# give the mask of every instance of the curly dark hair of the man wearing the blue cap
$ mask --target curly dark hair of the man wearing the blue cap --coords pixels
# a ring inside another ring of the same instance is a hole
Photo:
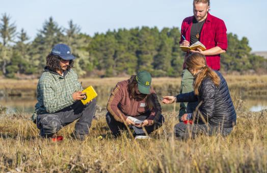
[[[57,72],[58,70],[61,70],[60,60],[62,60],[60,56],[49,53],[46,56],[46,67],[51,71]],[[72,60],[69,61],[67,70],[70,70],[71,68],[73,68]]]

